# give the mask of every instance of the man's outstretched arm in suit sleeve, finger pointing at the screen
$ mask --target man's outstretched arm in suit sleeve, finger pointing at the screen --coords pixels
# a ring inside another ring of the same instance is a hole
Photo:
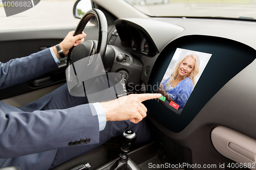
[[[141,102],[160,96],[161,94],[131,94],[100,104],[105,111],[106,120],[129,119],[138,123],[146,116],[146,108]],[[0,105],[0,150],[3,151],[0,158],[70,147],[69,142],[81,138],[90,138],[91,141],[87,144],[98,143],[99,124],[95,112],[91,104],[33,112]]]

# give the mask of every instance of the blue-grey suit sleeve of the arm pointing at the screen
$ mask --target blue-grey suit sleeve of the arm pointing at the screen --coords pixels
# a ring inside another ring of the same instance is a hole
[[[0,102],[0,158],[18,157],[99,142],[99,122],[92,104],[69,109],[24,112]]]

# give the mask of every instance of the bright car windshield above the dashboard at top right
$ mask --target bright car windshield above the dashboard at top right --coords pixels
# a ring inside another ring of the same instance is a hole
[[[123,0],[150,16],[256,18],[256,0]]]

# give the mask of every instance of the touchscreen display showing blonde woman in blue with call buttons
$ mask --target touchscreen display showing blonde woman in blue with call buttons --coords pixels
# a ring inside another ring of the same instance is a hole
[[[197,85],[211,54],[177,48],[160,82],[157,101],[181,114]]]

